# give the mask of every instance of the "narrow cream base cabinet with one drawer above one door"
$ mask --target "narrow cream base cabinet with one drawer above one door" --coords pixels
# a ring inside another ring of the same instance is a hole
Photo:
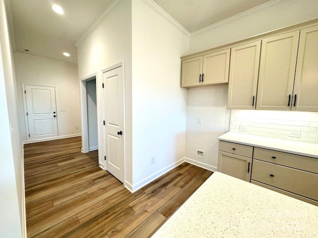
[[[219,141],[218,172],[249,182],[252,153],[251,146]]]

